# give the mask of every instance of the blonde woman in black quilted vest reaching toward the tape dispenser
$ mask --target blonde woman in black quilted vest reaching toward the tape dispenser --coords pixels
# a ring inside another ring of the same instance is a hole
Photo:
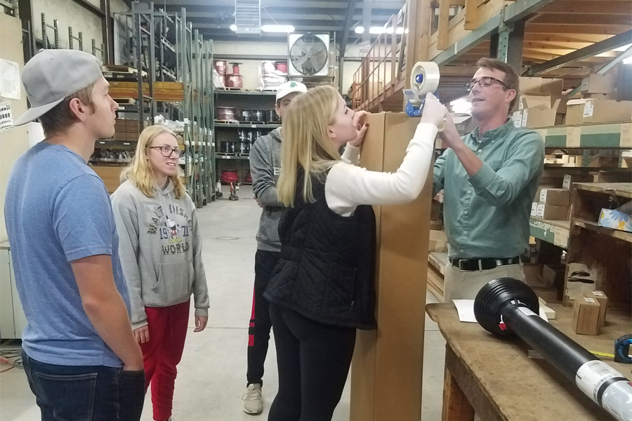
[[[299,95],[287,111],[277,193],[288,209],[279,224],[281,260],[264,295],[279,366],[269,421],[331,420],[356,329],[376,328],[375,215],[369,205],[419,196],[446,109],[428,95],[395,173],[357,166],[368,128],[358,130],[363,114],[354,114],[331,86]]]

